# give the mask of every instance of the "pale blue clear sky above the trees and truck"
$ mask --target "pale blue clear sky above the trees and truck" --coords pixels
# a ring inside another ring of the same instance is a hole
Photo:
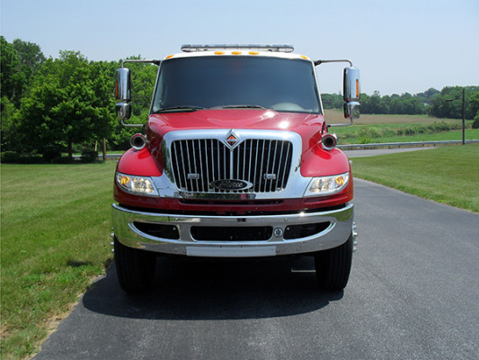
[[[479,0],[0,0],[0,13],[7,41],[34,42],[46,57],[288,43],[313,59],[350,58],[366,94],[479,85]],[[317,67],[321,92],[342,91],[342,67]]]

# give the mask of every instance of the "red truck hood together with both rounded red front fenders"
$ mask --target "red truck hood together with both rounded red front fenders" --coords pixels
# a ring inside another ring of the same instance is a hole
[[[164,134],[173,130],[288,130],[303,139],[301,175],[306,177],[342,174],[350,171],[348,157],[334,148],[320,145],[324,117],[318,114],[273,112],[268,110],[200,110],[151,115],[146,125],[148,149],[130,150],[120,163],[125,174],[159,176],[163,172],[161,142]],[[151,153],[151,157],[149,156]],[[155,161],[156,166],[152,163]]]

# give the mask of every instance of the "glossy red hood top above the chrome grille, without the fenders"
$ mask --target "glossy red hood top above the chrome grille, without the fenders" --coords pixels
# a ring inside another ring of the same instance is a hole
[[[289,130],[301,135],[305,152],[321,139],[323,124],[324,117],[318,114],[255,109],[200,110],[151,115],[146,133],[149,139],[161,141],[166,132],[173,130]]]

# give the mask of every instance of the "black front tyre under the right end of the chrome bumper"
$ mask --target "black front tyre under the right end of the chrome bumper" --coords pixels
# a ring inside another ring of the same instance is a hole
[[[318,285],[325,290],[344,289],[350,278],[351,260],[352,234],[341,246],[315,253]]]

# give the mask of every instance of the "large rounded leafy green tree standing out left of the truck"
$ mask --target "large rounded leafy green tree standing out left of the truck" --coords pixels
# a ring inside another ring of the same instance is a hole
[[[24,150],[45,154],[51,148],[103,139],[111,131],[111,77],[103,63],[89,64],[75,51],[60,51],[34,76],[22,100],[19,128]]]

